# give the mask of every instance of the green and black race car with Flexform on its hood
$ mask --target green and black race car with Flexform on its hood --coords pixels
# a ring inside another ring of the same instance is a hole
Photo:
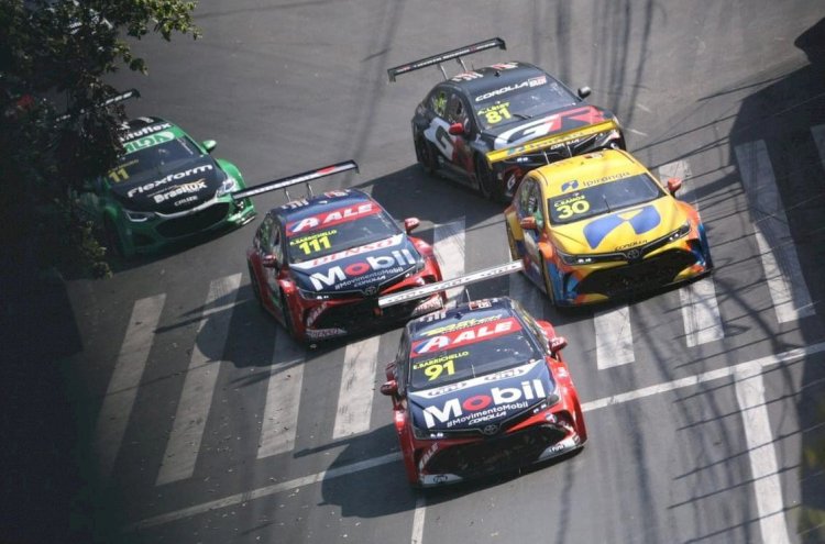
[[[194,234],[240,226],[255,217],[238,168],[212,158],[216,142],[195,142],[160,118],[124,123],[125,149],[106,176],[77,195],[80,209],[103,231],[110,251],[124,257],[157,252]]]

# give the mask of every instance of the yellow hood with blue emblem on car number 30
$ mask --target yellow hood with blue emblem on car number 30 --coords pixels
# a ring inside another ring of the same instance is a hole
[[[667,236],[685,221],[688,215],[675,200],[662,197],[575,223],[554,225],[550,236],[556,247],[571,255],[623,252]]]

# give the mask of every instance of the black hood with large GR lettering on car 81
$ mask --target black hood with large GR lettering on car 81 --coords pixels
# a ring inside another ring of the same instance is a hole
[[[507,123],[485,130],[481,137],[491,149],[503,149],[544,136],[610,121],[615,115],[596,106],[574,106],[537,115],[520,123]]]

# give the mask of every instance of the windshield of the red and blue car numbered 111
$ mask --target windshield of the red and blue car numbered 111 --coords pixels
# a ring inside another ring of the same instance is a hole
[[[318,218],[317,225],[299,232],[294,232],[290,227],[293,223],[287,223],[289,263],[302,263],[399,234],[400,230],[393,218],[377,204],[373,206],[374,211],[353,220],[326,220],[336,217],[337,211],[315,215],[309,219]],[[343,217],[343,213],[339,217]]]

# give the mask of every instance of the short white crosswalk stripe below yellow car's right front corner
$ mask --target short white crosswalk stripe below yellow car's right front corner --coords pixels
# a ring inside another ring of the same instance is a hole
[[[688,347],[725,337],[713,279],[702,278],[679,289]]]

